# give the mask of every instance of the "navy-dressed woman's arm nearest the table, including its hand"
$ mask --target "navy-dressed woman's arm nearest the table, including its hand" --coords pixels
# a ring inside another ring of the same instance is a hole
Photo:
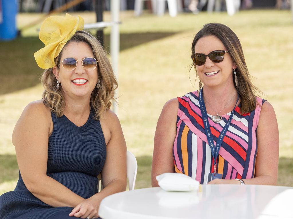
[[[116,114],[110,110],[100,120],[106,146],[106,161],[101,172],[103,190],[77,205],[69,216],[97,218],[103,198],[126,189],[126,143]]]

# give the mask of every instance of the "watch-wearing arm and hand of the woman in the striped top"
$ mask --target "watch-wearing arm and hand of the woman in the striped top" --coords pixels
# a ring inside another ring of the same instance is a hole
[[[279,163],[279,130],[275,111],[269,102],[264,102],[261,107],[256,137],[258,153],[255,161],[255,178],[243,181],[246,184],[276,185]],[[209,184],[239,184],[239,181],[215,179]]]

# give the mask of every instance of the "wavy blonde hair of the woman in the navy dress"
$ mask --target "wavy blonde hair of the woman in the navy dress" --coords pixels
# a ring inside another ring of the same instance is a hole
[[[99,41],[85,31],[76,31],[76,33],[70,38],[65,44],[64,48],[70,42],[85,42],[91,48],[94,58],[98,60],[98,78],[100,79],[100,88],[94,89],[91,93],[90,105],[91,109],[94,111],[94,118],[96,120],[100,119],[101,114],[106,110],[110,109],[112,105],[112,100],[114,99],[115,89],[118,87],[117,80],[114,76],[112,66],[107,57],[107,53]],[[63,48],[63,49],[64,49]],[[63,51],[62,49],[62,51]],[[60,67],[60,58],[62,56],[62,51],[54,59],[55,65]],[[57,88],[57,79],[53,74],[53,68],[46,69],[41,77],[42,85],[45,91],[42,94],[45,106],[49,107],[52,112],[56,114],[57,117],[63,116],[63,111],[65,108],[65,101],[61,89]]]

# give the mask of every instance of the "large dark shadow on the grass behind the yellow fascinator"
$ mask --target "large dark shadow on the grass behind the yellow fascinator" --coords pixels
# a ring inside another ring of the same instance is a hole
[[[145,32],[120,34],[120,51],[162,39],[174,32]],[[105,35],[105,48],[109,51],[110,36]],[[0,95],[39,84],[43,70],[35,62],[34,53],[44,44],[38,37],[19,37],[13,41],[0,41],[1,81]]]

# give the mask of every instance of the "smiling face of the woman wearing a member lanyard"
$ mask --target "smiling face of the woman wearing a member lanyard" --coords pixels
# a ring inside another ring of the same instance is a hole
[[[195,53],[209,54],[215,50],[227,50],[224,44],[215,36],[204,36],[195,44]],[[204,65],[195,65],[197,75],[202,83],[207,87],[234,86],[232,69],[236,68],[229,53],[224,55],[224,60],[219,63],[212,62],[206,57]]]

